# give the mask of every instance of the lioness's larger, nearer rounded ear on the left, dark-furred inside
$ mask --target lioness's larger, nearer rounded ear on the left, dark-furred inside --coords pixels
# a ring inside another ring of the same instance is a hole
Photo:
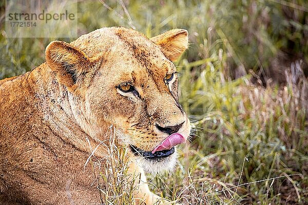
[[[89,70],[90,59],[81,50],[55,40],[46,47],[46,61],[60,84],[71,88]]]

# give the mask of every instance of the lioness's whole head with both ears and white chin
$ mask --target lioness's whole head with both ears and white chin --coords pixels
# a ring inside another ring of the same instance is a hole
[[[46,60],[69,91],[74,117],[84,131],[103,140],[107,127],[117,127],[119,141],[146,171],[156,173],[175,166],[172,146],[189,135],[171,62],[187,48],[187,35],[175,29],[148,39],[132,29],[103,28],[70,44],[51,42]],[[170,135],[169,146],[153,152]]]

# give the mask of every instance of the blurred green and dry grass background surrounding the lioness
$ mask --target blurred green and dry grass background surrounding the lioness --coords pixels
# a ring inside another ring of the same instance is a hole
[[[4,1],[0,11],[2,79],[43,63],[54,39],[7,38]],[[149,176],[153,192],[187,204],[308,203],[307,1],[79,1],[78,18],[79,34],[189,32],[175,64],[194,133],[174,174]]]

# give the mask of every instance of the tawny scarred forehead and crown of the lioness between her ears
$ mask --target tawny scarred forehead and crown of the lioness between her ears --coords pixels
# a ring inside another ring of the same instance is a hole
[[[99,73],[109,76],[111,84],[141,83],[149,77],[160,81],[166,74],[176,72],[176,67],[160,47],[133,29],[103,28],[85,34],[71,44],[89,57],[104,58]]]

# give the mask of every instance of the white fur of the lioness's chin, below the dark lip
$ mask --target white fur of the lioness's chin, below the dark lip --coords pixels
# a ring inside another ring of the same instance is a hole
[[[152,175],[162,174],[165,171],[172,172],[174,171],[178,162],[177,148],[175,148],[175,153],[168,157],[151,160],[140,156],[136,158],[136,162],[140,167],[144,169],[145,172]]]

